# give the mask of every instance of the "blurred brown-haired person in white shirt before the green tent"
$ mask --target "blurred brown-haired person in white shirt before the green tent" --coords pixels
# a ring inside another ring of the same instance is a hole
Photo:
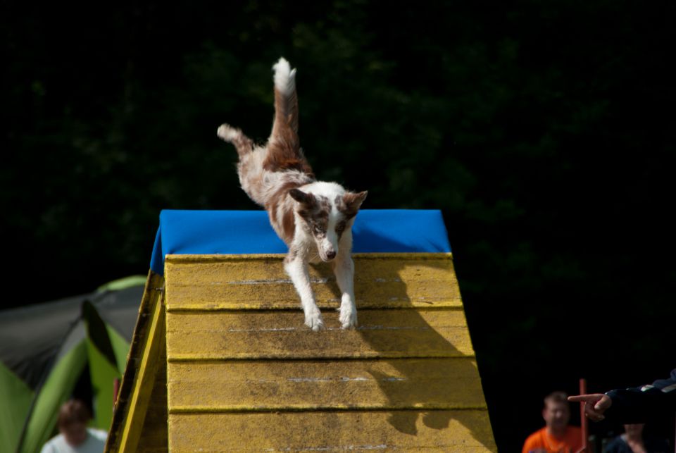
[[[91,416],[80,400],[70,399],[58,411],[59,435],[51,438],[40,453],[103,453],[107,433],[87,428]]]

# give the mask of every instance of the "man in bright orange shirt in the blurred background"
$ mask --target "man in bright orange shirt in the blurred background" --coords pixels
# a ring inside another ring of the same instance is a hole
[[[545,426],[526,439],[522,453],[577,453],[582,449],[582,430],[569,426],[570,404],[564,392],[544,398],[542,418]]]

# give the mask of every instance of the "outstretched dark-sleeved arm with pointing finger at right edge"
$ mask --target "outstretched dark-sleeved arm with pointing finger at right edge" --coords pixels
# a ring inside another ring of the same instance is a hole
[[[583,403],[584,414],[592,421],[608,416],[620,423],[644,423],[676,411],[676,368],[669,378],[652,385],[576,395],[568,401]]]

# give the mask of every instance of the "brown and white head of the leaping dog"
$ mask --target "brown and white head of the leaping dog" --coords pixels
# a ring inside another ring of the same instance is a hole
[[[338,254],[343,233],[352,228],[354,217],[368,192],[343,192],[335,195],[313,194],[292,189],[289,195],[298,201],[296,213],[301,227],[317,244],[322,261],[332,261]]]

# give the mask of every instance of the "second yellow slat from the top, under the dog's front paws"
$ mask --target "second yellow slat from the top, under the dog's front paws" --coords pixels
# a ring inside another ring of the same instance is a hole
[[[359,327],[342,330],[335,310],[311,335],[293,311],[170,311],[170,361],[182,359],[323,359],[473,356],[461,310],[361,309]]]

